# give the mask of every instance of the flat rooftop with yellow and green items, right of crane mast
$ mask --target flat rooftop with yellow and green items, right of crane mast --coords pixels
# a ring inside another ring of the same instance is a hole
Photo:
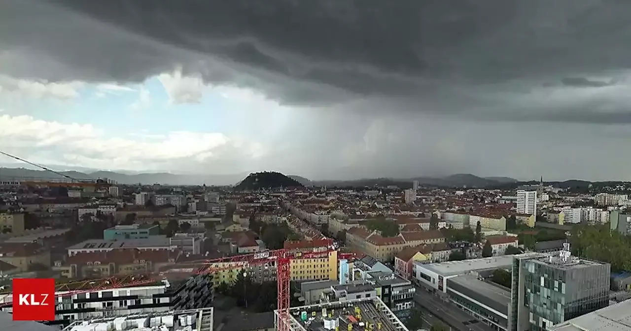
[[[355,317],[355,308],[360,310],[362,320]],[[322,312],[326,316],[322,316]],[[322,331],[324,321],[338,321],[338,330],[347,330],[348,325],[353,325],[353,330],[369,330],[369,325],[374,325],[377,330],[378,323],[381,323],[382,331],[408,331],[401,321],[379,298],[363,298],[349,301],[336,301],[319,305],[310,305],[290,308],[292,323],[290,329],[293,331]],[[302,312],[307,314],[307,320],[300,318]],[[275,311],[278,313],[278,311]],[[330,317],[329,317],[330,315]]]

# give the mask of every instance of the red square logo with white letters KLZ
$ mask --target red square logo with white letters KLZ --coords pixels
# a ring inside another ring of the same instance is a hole
[[[13,279],[13,320],[54,321],[55,279]]]

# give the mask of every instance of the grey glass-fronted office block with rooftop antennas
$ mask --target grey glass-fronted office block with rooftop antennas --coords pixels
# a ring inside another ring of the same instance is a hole
[[[572,257],[569,243],[552,253],[515,255],[509,331],[545,331],[609,305],[611,266]]]

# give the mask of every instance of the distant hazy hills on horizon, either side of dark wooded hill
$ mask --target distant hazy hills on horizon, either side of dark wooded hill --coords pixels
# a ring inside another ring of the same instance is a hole
[[[108,178],[115,182],[127,185],[153,184],[163,185],[237,185],[246,178],[249,173],[236,173],[232,175],[198,175],[198,174],[173,174],[173,173],[121,173],[118,171],[59,171],[60,173],[76,179]],[[0,168],[0,179],[6,178],[38,178],[40,180],[60,178],[60,176],[44,170],[32,170],[27,168]],[[468,173],[460,173],[447,177],[415,177],[415,178],[365,178],[360,180],[309,180],[297,175],[287,175],[304,186],[329,186],[329,187],[374,187],[394,185],[400,188],[411,187],[412,182],[418,180],[420,185],[436,187],[507,187],[520,183],[510,177],[478,177]],[[528,182],[535,183],[535,182]],[[565,182],[546,182],[558,187],[587,186],[591,182],[584,180],[566,180]]]

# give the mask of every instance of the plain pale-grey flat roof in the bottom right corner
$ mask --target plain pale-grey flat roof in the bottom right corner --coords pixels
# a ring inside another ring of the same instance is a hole
[[[557,324],[550,331],[631,331],[631,299]]]

